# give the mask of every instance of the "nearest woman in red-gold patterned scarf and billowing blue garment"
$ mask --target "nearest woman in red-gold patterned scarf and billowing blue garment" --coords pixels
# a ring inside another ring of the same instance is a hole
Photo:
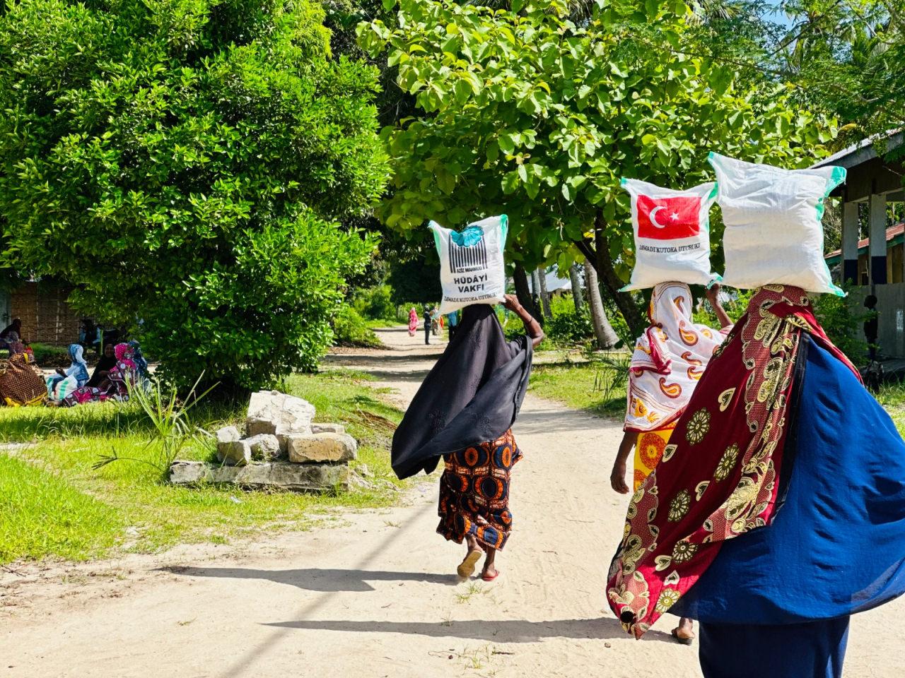
[[[840,678],[905,591],[905,443],[799,287],[757,289],[638,489],[607,598],[700,622],[704,678]]]

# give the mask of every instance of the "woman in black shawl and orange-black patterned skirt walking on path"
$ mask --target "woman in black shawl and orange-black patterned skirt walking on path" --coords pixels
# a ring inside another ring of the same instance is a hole
[[[515,297],[507,296],[506,306],[528,334],[507,342],[492,306],[466,306],[393,437],[393,469],[400,478],[430,473],[443,457],[437,532],[465,541],[456,569],[463,579],[484,554],[481,578],[492,581],[499,574],[496,552],[512,528],[510,473],[521,458],[511,427],[528,389],[534,347],[544,336]]]

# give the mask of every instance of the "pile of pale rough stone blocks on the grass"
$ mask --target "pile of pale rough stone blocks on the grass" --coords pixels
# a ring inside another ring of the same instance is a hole
[[[176,461],[170,466],[170,482],[296,491],[348,488],[348,462],[356,458],[356,439],[341,424],[314,423],[314,416],[308,400],[280,391],[252,393],[245,435],[234,426],[216,432],[221,463]]]

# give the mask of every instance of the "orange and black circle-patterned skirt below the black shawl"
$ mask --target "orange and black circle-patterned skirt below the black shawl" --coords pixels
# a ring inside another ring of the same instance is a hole
[[[473,536],[502,549],[512,529],[510,473],[521,457],[511,429],[496,440],[443,455],[437,532],[456,543]]]

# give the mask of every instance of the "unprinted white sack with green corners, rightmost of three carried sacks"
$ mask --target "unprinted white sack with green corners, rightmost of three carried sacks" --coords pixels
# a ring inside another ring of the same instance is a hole
[[[794,285],[840,297],[824,261],[824,202],[843,167],[786,170],[710,154],[726,231],[723,284]]]

